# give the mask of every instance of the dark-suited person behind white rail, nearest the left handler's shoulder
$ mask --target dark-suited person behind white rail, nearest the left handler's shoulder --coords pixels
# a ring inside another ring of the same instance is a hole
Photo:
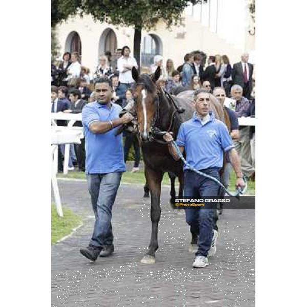
[[[71,109],[64,111],[64,113],[81,113],[82,108],[87,103],[87,101],[81,99],[81,92],[79,90],[73,89],[70,91],[69,99],[72,103]],[[82,123],[77,121],[74,123],[76,127],[82,127]],[[75,152],[78,162],[79,170],[85,171],[85,141],[84,138],[81,139],[81,144],[75,144]]]

